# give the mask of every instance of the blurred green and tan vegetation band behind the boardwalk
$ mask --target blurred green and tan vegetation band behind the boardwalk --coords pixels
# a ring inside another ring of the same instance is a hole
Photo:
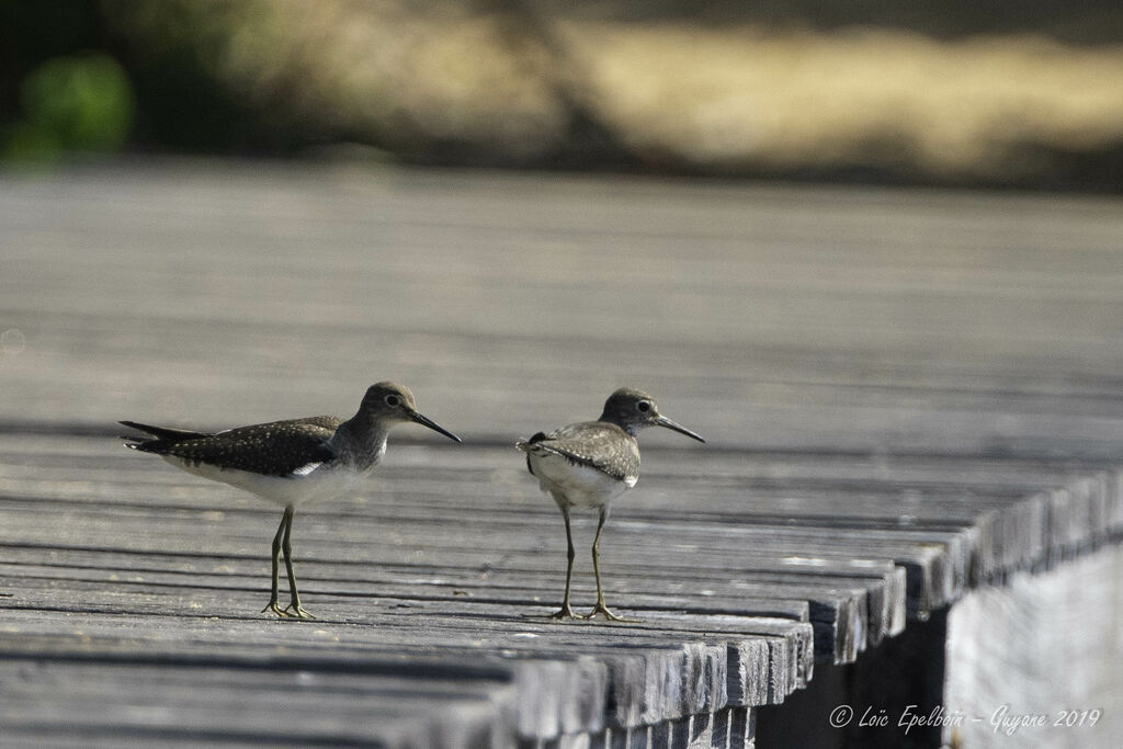
[[[1120,190],[1123,6],[0,2],[3,157],[188,152]]]

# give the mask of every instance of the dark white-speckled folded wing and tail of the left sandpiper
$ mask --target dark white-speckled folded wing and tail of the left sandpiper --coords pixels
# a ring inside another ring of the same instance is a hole
[[[125,423],[125,422],[122,422]],[[328,445],[343,419],[312,417],[238,427],[214,435],[164,428],[127,426],[157,435],[127,446],[181,458],[188,463],[235,468],[265,476],[305,476],[338,456]]]

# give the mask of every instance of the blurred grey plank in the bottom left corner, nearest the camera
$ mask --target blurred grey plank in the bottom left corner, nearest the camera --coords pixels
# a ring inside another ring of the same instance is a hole
[[[438,741],[466,748],[513,740],[494,704],[496,687],[478,679],[57,660],[8,661],[0,672],[4,724],[25,732],[109,733],[122,741],[272,737],[277,742],[387,747]],[[419,714],[419,698],[437,712]],[[168,722],[170,704],[175,705],[174,723]],[[335,718],[326,720],[325,714]]]

